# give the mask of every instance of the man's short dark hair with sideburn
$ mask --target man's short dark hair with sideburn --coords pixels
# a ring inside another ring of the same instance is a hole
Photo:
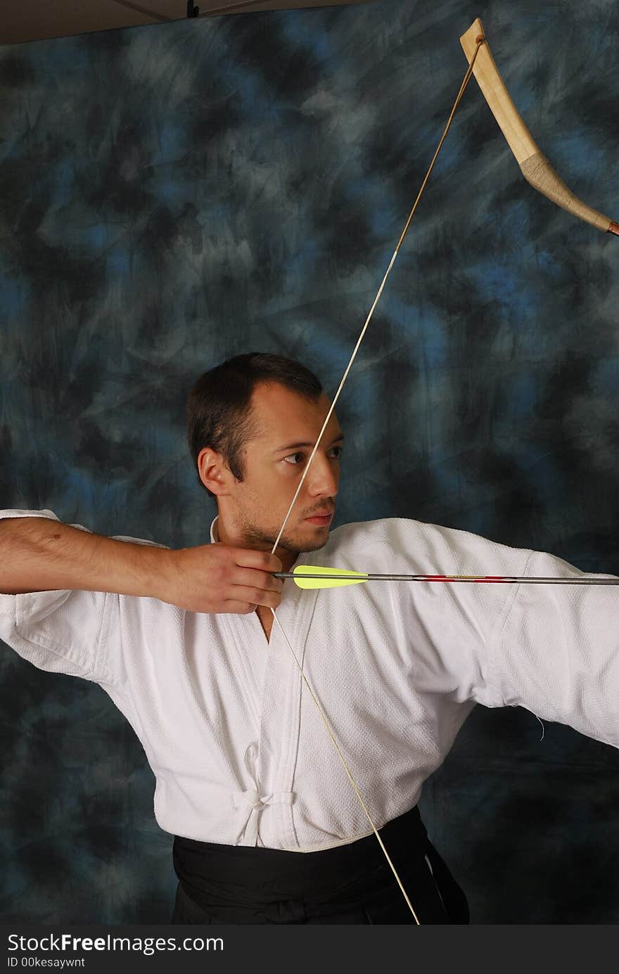
[[[323,387],[313,372],[284,356],[250,352],[234,356],[200,376],[187,397],[187,437],[194,468],[205,446],[220,453],[237,480],[243,480],[243,447],[255,431],[251,394],[260,382],[278,382],[315,402]],[[198,483],[211,497],[213,491]]]

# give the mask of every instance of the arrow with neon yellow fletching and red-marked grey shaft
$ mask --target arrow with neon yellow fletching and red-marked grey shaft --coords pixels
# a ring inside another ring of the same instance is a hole
[[[365,581],[484,581],[499,584],[526,582],[537,585],[619,585],[619,579],[540,578],[527,575],[385,575],[353,572],[320,565],[297,565],[292,572],[273,572],[275,579],[292,579],[297,588],[339,588]]]

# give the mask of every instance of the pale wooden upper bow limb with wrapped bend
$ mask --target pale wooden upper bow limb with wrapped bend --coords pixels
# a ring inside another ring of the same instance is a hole
[[[480,38],[484,38],[484,26],[481,19],[473,21],[466,33],[462,34],[460,44],[469,62],[478,48]],[[512,101],[507,88],[501,78],[494,58],[490,54],[487,42],[482,45],[473,74],[482,89],[489,109],[498,122],[500,130],[505,135],[507,143],[516,156],[522,175],[530,185],[543,196],[548,197],[557,206],[566,209],[578,219],[591,223],[603,233],[619,236],[619,223],[610,220],[603,213],[587,206],[565,185],[558,173],[550,165],[531,137],[522,118]]]

